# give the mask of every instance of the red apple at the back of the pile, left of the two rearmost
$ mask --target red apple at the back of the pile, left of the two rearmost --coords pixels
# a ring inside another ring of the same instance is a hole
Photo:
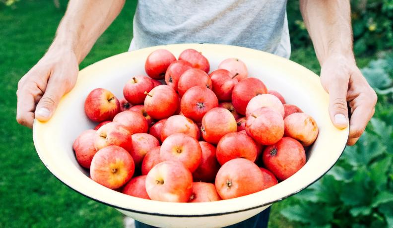
[[[176,61],[176,57],[165,49],[150,53],[145,62],[145,71],[153,79],[164,79],[168,66]],[[148,92],[148,91],[147,91]]]

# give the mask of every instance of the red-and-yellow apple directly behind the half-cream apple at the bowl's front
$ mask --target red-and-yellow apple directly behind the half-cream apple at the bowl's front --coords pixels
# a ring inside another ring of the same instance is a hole
[[[184,133],[172,134],[162,142],[160,160],[182,162],[194,172],[202,160],[202,149],[194,137]]]

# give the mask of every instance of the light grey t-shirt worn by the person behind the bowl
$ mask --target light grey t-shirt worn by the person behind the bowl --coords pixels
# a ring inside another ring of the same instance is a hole
[[[130,50],[215,43],[289,58],[286,0],[138,0]]]

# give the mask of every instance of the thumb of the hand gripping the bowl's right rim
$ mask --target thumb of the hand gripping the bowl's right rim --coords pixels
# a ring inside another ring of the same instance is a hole
[[[333,80],[328,86],[329,93],[329,115],[333,125],[339,129],[348,126],[348,106],[347,106],[347,92],[348,81]]]

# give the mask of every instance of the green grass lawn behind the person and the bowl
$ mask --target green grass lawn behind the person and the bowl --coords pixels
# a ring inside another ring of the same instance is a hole
[[[57,180],[38,158],[31,130],[15,120],[19,79],[43,56],[66,9],[52,0],[23,0],[12,7],[0,5],[0,228],[11,227],[122,227],[123,215],[92,201]],[[124,10],[80,64],[126,52],[132,37],[135,1]],[[292,60],[319,72],[312,49],[293,50]],[[361,65],[368,58],[359,59]],[[279,210],[294,199],[273,206],[269,226],[297,227]]]

